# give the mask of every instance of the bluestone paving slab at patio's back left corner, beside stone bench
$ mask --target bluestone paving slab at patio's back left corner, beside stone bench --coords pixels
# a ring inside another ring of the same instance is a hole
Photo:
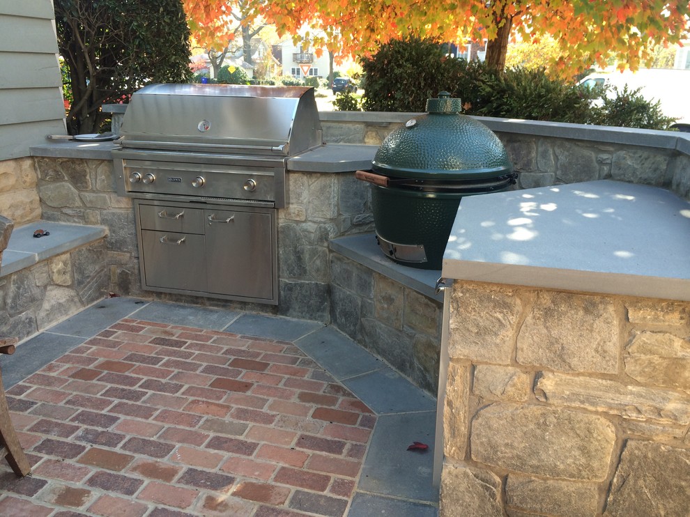
[[[140,309],[144,304],[148,304],[148,302],[137,298],[105,298],[105,300],[87,307],[75,316],[53,325],[49,332],[84,338],[93,337],[98,332],[107,329],[110,325]]]

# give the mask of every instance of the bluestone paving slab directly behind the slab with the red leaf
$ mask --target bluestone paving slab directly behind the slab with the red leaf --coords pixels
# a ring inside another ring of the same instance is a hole
[[[436,399],[389,367],[341,382],[377,415],[436,410]]]

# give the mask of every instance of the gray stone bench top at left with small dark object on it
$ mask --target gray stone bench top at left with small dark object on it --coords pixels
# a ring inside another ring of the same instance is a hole
[[[33,232],[42,229],[49,236],[35,238]],[[104,226],[85,226],[61,222],[36,221],[18,226],[10,236],[2,254],[0,277],[5,277],[31,265],[70,252],[79,246],[91,244],[107,235]]]

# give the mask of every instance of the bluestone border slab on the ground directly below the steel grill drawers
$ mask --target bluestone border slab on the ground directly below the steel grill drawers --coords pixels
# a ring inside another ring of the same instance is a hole
[[[212,309],[197,305],[151,302],[146,307],[132,313],[130,318],[206,330],[223,330],[239,315],[240,313],[237,311]]]

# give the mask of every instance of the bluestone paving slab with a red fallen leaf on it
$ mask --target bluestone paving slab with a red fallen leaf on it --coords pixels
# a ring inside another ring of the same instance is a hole
[[[435,432],[433,411],[379,416],[358,490],[436,502],[438,491],[432,485]],[[429,445],[429,449],[408,451],[413,442]]]

